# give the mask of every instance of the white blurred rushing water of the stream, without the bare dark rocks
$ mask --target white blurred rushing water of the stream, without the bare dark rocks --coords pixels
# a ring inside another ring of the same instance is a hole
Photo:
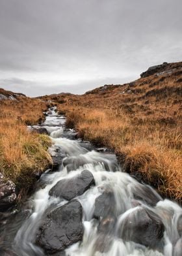
[[[13,248],[14,251],[16,251],[19,256],[45,255],[43,250],[34,244],[40,221],[44,216],[45,210],[49,207],[57,208],[67,202],[66,200],[62,201],[58,198],[55,199],[54,197],[50,197],[49,190],[57,184],[59,180],[72,178],[77,174],[80,174],[83,170],[89,170],[94,176],[96,185],[88,189],[83,195],[77,197],[77,200],[79,200],[83,206],[83,225],[85,228],[83,241],[67,248],[66,255],[175,256],[172,251],[175,242],[179,240],[177,219],[182,214],[181,207],[170,200],[162,200],[151,188],[149,188],[151,194],[153,193],[160,199],[155,207],[146,205],[142,200],[134,199],[134,192],[144,193],[144,185],[139,184],[134,178],[131,178],[129,174],[122,172],[118,166],[115,155],[100,153],[94,150],[88,152],[88,150],[81,147],[79,140],[61,138],[64,133],[64,123],[65,119],[60,118],[55,112],[55,109],[53,109],[51,114],[47,116],[43,126],[45,126],[49,133],[51,133],[53,143],[67,153],[68,158],[71,159],[72,163],[77,162],[79,159],[85,164],[71,172],[68,172],[66,167],[60,166],[59,172],[51,174],[45,173],[42,175],[41,180],[44,181],[45,187],[36,191],[30,199],[31,216],[23,223],[16,234]],[[115,172],[112,172],[112,170]],[[116,229],[112,235],[108,235],[107,233],[101,234],[98,232],[99,221],[93,217],[95,200],[101,193],[103,193],[103,191],[112,191],[112,193],[114,193],[114,213],[118,217]],[[150,197],[150,195],[145,196]],[[135,242],[125,242],[117,235],[123,219],[125,219],[128,214],[141,207],[138,206],[138,203],[149,208],[149,210],[155,212],[155,214],[158,214],[164,223],[164,246],[161,252],[153,251],[145,246],[135,244]],[[104,251],[101,249],[102,247],[107,249]]]

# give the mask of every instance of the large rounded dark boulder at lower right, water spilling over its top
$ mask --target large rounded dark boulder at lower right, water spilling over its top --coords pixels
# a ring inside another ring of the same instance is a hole
[[[138,206],[123,219],[119,233],[124,240],[157,248],[162,242],[164,225],[157,214]]]

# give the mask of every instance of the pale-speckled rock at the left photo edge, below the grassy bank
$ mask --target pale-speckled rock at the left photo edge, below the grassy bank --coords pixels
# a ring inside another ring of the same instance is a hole
[[[16,186],[13,182],[3,182],[3,174],[0,173],[0,212],[5,212],[16,203]]]

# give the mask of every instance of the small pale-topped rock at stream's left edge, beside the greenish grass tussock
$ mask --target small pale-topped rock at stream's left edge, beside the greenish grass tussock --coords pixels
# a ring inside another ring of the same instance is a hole
[[[48,149],[48,152],[53,160],[53,170],[59,170],[60,165],[62,165],[62,160],[66,157],[66,153],[61,150],[59,146],[55,145],[51,146],[51,148]]]

